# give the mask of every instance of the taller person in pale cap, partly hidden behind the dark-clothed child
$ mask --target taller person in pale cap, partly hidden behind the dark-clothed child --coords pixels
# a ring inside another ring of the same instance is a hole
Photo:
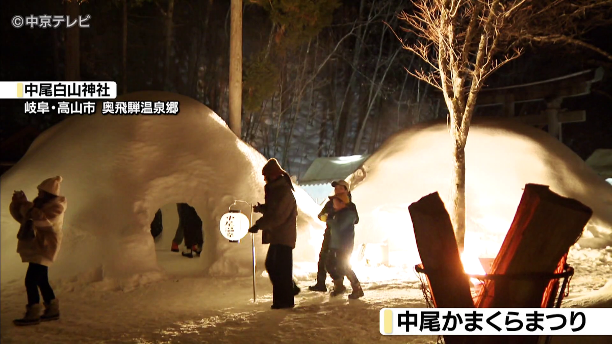
[[[349,191],[349,184],[346,181],[340,180],[332,182],[332,187],[334,187],[335,195],[345,194],[348,196],[349,204],[348,207],[353,209],[355,214],[357,215],[357,219],[355,224],[359,223],[359,215],[357,214],[357,207],[353,203],[353,196],[351,196],[351,192]],[[327,201],[321,212],[319,212],[319,220],[323,222],[327,222],[327,218],[334,214],[334,202],[332,200]],[[327,286],[325,285],[325,280],[327,279],[327,269],[325,267],[327,261],[327,252],[329,252],[329,225],[325,228],[325,233],[323,234],[323,244],[321,244],[321,252],[319,252],[319,262],[317,264],[317,273],[316,273],[316,284],[309,286],[308,289],[312,291],[327,291]]]

